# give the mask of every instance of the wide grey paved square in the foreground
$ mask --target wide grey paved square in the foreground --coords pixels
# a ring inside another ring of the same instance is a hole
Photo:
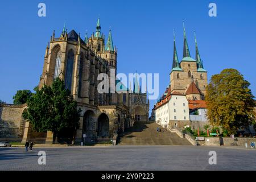
[[[46,152],[46,165],[38,152]],[[209,151],[217,164],[210,165]],[[256,150],[207,146],[0,148],[0,170],[256,170]]]

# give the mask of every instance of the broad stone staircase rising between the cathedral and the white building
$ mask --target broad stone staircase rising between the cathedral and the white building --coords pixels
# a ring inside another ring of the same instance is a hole
[[[162,132],[157,132],[159,127]],[[192,145],[185,138],[180,138],[176,133],[163,129],[155,122],[135,122],[134,127],[127,129],[118,136],[119,145]]]

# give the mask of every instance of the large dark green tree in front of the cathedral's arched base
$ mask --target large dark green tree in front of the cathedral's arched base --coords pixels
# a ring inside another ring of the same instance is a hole
[[[35,131],[53,132],[53,140],[61,131],[70,129],[75,135],[79,127],[80,109],[73,100],[70,91],[65,89],[60,78],[53,81],[52,86],[44,85],[27,101],[28,109],[23,117],[32,123]],[[69,131],[70,131],[69,130]]]

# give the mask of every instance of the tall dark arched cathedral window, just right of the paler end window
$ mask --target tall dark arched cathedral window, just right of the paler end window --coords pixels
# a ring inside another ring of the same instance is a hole
[[[71,91],[72,85],[72,75],[73,75],[73,63],[74,63],[74,53],[73,51],[68,52],[68,60],[66,63],[65,71],[65,88]]]

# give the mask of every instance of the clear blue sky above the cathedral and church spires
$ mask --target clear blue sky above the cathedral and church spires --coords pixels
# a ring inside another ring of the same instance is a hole
[[[46,3],[46,17],[38,16],[38,4]],[[217,17],[208,5],[217,5]],[[13,102],[16,90],[38,85],[44,52],[52,31],[60,35],[64,20],[68,30],[84,38],[112,27],[118,48],[118,73],[159,73],[159,92],[169,83],[173,35],[179,60],[183,52],[183,24],[191,56],[195,58],[193,31],[204,68],[210,76],[235,68],[251,83],[256,95],[256,1],[3,1],[0,4],[0,100]],[[150,109],[155,101],[150,102]]]

